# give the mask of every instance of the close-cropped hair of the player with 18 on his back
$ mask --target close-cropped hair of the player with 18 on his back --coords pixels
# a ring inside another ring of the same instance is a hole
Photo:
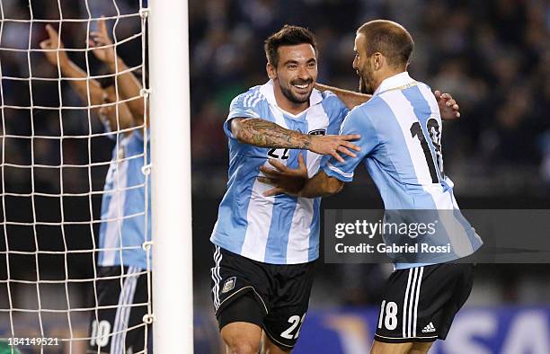
[[[402,25],[387,20],[374,20],[363,24],[357,30],[367,40],[367,55],[379,52],[386,57],[390,66],[406,66],[411,58],[414,41]]]

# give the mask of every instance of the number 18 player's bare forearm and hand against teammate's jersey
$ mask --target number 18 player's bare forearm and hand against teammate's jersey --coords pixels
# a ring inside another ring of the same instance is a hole
[[[301,154],[298,155],[297,169],[288,168],[272,159],[270,164],[275,169],[261,166],[260,171],[264,176],[258,177],[258,181],[273,186],[271,190],[266,190],[263,193],[265,197],[285,193],[296,197],[316,198],[330,196],[342,190],[343,181],[329,177],[323,171],[308,179],[306,163]]]

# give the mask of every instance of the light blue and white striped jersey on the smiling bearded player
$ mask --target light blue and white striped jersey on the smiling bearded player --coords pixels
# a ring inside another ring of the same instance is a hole
[[[269,149],[239,143],[229,128],[234,118],[260,118],[308,134],[337,134],[347,107],[333,93],[314,90],[306,111],[293,115],[275,101],[273,82],[255,86],[231,102],[224,130],[229,137],[229,181],[210,241],[254,261],[296,264],[319,257],[320,198],[288,195],[264,197],[269,184],[257,180],[268,158],[297,167],[302,153],[310,176],[317,173],[321,155],[293,149]]]

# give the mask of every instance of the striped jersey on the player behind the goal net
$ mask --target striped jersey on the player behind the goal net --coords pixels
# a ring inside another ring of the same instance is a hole
[[[148,164],[148,141],[146,149]],[[151,183],[149,179],[146,185],[142,173],[144,165],[142,133],[134,130],[128,136],[120,135],[113,148],[111,165],[105,178],[99,247],[109,250],[99,252],[99,266],[122,264],[146,269],[146,252],[141,245],[146,241],[145,238],[151,240]],[[146,198],[149,206],[147,213]],[[120,247],[132,248],[120,252]]]

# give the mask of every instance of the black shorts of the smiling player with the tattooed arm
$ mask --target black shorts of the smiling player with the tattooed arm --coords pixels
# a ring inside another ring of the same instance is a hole
[[[315,262],[268,264],[218,246],[214,262],[212,297],[220,330],[228,323],[254,323],[281,349],[292,349],[309,305]]]

